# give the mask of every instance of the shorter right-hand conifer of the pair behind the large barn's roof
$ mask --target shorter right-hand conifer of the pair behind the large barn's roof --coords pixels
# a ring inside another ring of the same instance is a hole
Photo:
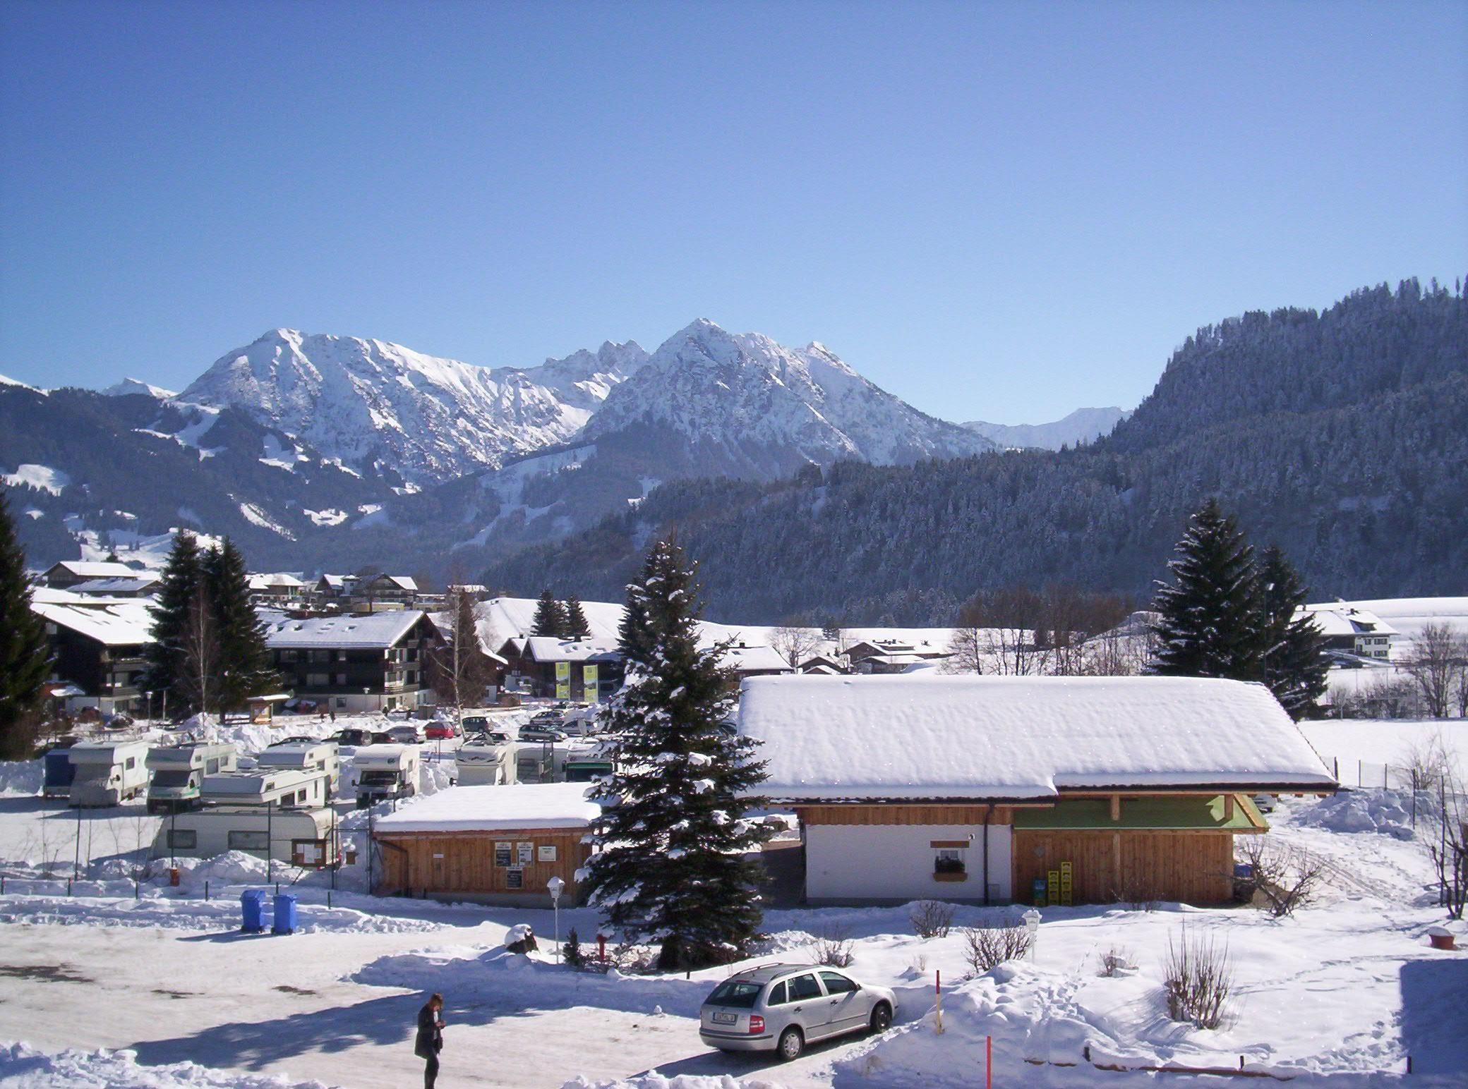
[[[1296,616],[1309,591],[1280,549],[1271,546],[1264,550],[1258,583],[1264,615],[1260,643],[1264,682],[1290,718],[1299,721],[1326,694],[1326,672],[1330,669],[1326,638],[1312,616]]]

